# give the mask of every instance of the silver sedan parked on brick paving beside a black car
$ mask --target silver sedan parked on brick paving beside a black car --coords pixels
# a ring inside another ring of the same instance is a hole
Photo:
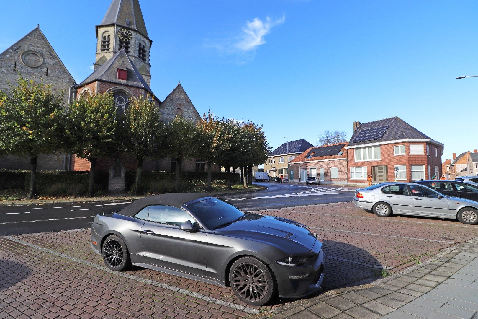
[[[355,190],[355,206],[388,217],[392,213],[478,223],[478,202],[450,197],[415,183],[380,183]]]

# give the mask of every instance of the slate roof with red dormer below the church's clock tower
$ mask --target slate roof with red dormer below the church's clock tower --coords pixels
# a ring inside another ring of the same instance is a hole
[[[118,79],[118,69],[125,69],[128,71],[128,77],[126,80]],[[146,83],[140,72],[131,61],[130,57],[126,54],[124,49],[121,49],[118,53],[113,55],[108,61],[103,63],[95,72],[90,74],[83,82],[76,87],[82,87],[93,81],[105,81],[111,83],[118,83],[119,85],[126,85],[137,88],[144,88],[152,95],[151,88]]]

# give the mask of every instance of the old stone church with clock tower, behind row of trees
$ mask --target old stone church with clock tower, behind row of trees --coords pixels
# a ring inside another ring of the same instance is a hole
[[[45,83],[65,89],[65,103],[86,95],[111,92],[118,111],[122,113],[127,110],[132,98],[150,95],[154,97],[154,103],[161,113],[161,121],[167,123],[175,116],[182,116],[193,122],[200,119],[181,83],[163,101],[152,92],[152,40],[146,29],[139,0],[112,0],[103,20],[96,26],[96,36],[93,73],[81,83],[75,84],[43,33],[39,28],[34,29],[0,55],[0,90],[8,88],[8,79],[15,83],[20,72],[23,77],[36,76],[36,80],[43,78]],[[25,161],[25,165],[22,160],[12,163],[10,159],[7,163],[8,157],[0,157],[0,168],[29,169],[28,161]],[[45,161],[45,158],[50,160]],[[53,162],[56,165],[53,165]],[[109,170],[113,163],[118,162],[126,170],[136,169],[134,159],[127,156],[119,159],[99,159],[97,169]],[[171,159],[149,160],[144,162],[143,170],[172,171],[175,165]],[[85,171],[89,170],[90,165],[74,154],[64,154],[40,157],[38,167],[40,170]],[[182,169],[204,171],[205,165],[199,159],[190,159],[183,162]],[[213,166],[213,169],[219,171],[217,166]]]

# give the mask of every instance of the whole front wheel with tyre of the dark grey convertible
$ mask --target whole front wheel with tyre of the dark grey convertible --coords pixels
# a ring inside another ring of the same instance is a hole
[[[256,257],[242,257],[232,264],[229,283],[234,294],[243,302],[261,306],[276,294],[271,271]]]

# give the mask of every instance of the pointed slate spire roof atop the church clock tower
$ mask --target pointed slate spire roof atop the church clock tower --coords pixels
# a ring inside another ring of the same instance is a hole
[[[130,24],[127,23],[129,20]],[[118,24],[133,29],[149,39],[146,24],[144,23],[139,0],[113,0],[106,11],[105,17],[98,27],[102,25]]]

